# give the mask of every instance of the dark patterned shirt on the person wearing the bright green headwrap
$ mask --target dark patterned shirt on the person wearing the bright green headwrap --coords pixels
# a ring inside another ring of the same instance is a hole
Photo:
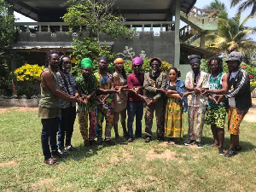
[[[88,96],[92,91],[98,90],[97,80],[94,75],[90,75],[88,79],[84,79],[82,75],[79,75],[75,80],[77,82],[79,96],[81,96],[81,94]],[[78,103],[78,106],[78,111],[89,113],[91,110],[96,109],[96,101],[90,99],[86,105],[84,103]]]

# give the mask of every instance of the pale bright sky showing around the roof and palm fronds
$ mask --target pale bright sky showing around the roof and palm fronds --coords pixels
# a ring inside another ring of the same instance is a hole
[[[212,1],[213,0],[197,0],[195,3],[195,7],[199,8],[199,9],[203,9],[206,5],[210,4]],[[230,0],[219,0],[219,1],[226,5],[226,8],[228,10],[230,17],[234,17],[236,15],[237,7],[230,9]],[[250,10],[251,9],[247,9],[241,13],[241,21],[244,20],[244,18],[250,14]],[[26,16],[20,15],[19,13],[16,13],[16,12],[15,12],[15,18],[19,18],[19,20],[17,20],[17,22],[33,22],[34,21],[34,20],[31,20],[31,19],[27,18]],[[247,20],[246,26],[256,26],[255,21],[256,21],[256,18]],[[186,25],[185,23],[181,22],[180,28],[185,25]],[[250,38],[253,38],[256,41],[256,34],[250,36]]]

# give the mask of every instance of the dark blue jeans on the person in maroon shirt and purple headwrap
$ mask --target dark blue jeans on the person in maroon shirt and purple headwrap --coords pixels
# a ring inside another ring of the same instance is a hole
[[[128,135],[129,138],[133,138],[132,124],[134,116],[136,115],[136,131],[135,137],[142,137],[142,119],[143,119],[143,102],[127,102],[128,112]]]

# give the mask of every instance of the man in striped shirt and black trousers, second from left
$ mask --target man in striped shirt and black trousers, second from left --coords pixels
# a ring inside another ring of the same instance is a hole
[[[71,61],[68,56],[62,55],[60,59],[60,71],[57,74],[60,90],[69,96],[75,96],[78,91],[71,72]],[[76,119],[76,103],[61,99],[61,121],[58,133],[58,145],[60,153],[67,155],[66,150],[73,151],[71,137],[73,135],[73,124]],[[64,139],[66,136],[66,148]]]

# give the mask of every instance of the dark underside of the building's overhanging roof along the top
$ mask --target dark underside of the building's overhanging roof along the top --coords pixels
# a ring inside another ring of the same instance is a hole
[[[67,0],[6,0],[16,12],[41,22],[61,21],[67,12]],[[188,14],[196,0],[180,0],[181,11]],[[175,0],[116,0],[113,12],[125,20],[168,20],[174,15]]]

